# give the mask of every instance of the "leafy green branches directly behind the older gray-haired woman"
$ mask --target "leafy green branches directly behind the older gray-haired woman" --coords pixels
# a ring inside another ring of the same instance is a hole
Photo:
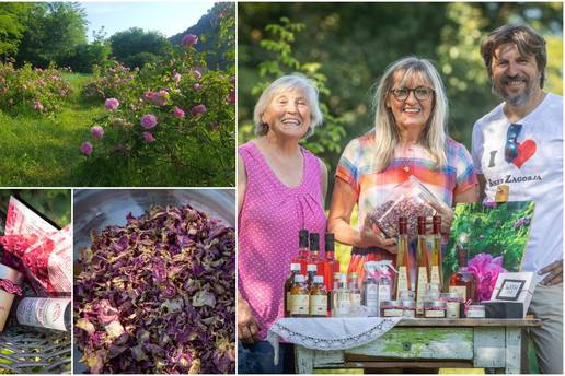
[[[320,91],[320,109],[324,124],[315,129],[313,137],[303,141],[303,145],[327,163],[330,161],[326,156],[342,151],[341,141],[345,137],[345,119],[330,110],[327,101],[332,96],[332,91],[326,85],[327,77],[321,71],[322,64],[300,62],[295,57],[292,44],[296,42],[297,34],[305,31],[307,27],[301,23],[292,23],[288,17],[281,17],[279,24],[268,24],[265,30],[272,37],[261,40],[261,47],[267,54],[263,54],[264,59],[258,66],[260,80],[251,89],[251,94],[255,98],[258,97],[270,82],[284,74],[300,72],[311,79]],[[246,113],[249,111],[244,111]],[[250,116],[240,116],[238,134],[240,143],[253,138],[253,124]],[[335,165],[330,166],[330,171],[334,168]]]

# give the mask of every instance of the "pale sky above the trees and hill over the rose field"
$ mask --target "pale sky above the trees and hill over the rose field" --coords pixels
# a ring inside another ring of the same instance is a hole
[[[195,25],[215,1],[90,1],[87,11],[88,36],[102,26],[106,37],[130,27],[158,31],[170,37]]]

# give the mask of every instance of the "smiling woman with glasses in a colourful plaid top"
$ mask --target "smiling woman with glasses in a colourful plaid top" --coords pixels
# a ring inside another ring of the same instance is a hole
[[[394,260],[394,238],[367,219],[367,202],[387,197],[414,175],[448,205],[477,200],[477,179],[466,149],[446,132],[448,101],[431,62],[415,57],[392,63],[381,78],[373,98],[374,128],[346,146],[339,160],[328,231],[351,245],[348,272],[364,274],[364,263]],[[358,228],[349,222],[358,204]],[[439,213],[441,230],[449,233],[452,212]]]

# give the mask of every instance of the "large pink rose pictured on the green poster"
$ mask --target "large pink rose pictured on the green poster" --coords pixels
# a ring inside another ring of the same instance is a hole
[[[503,256],[493,258],[488,254],[478,254],[469,260],[469,271],[476,278],[476,294],[478,301],[488,301],[496,285],[499,273],[506,273],[503,268]]]

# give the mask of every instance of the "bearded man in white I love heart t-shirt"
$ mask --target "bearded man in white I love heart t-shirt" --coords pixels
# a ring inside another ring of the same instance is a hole
[[[530,336],[540,372],[563,374],[563,97],[543,91],[545,40],[531,27],[495,30],[481,55],[505,102],[474,125],[475,172],[486,200],[535,201],[521,270],[535,272],[529,313],[543,326]]]

